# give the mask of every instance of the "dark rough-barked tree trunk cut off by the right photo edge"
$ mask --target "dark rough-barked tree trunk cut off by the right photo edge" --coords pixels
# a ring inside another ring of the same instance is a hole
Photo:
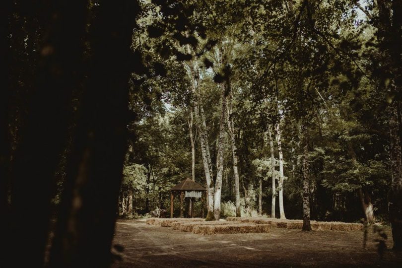
[[[402,250],[402,156],[401,110],[398,101],[390,105],[391,174],[392,184],[388,197],[388,210],[394,240],[394,250]]]

